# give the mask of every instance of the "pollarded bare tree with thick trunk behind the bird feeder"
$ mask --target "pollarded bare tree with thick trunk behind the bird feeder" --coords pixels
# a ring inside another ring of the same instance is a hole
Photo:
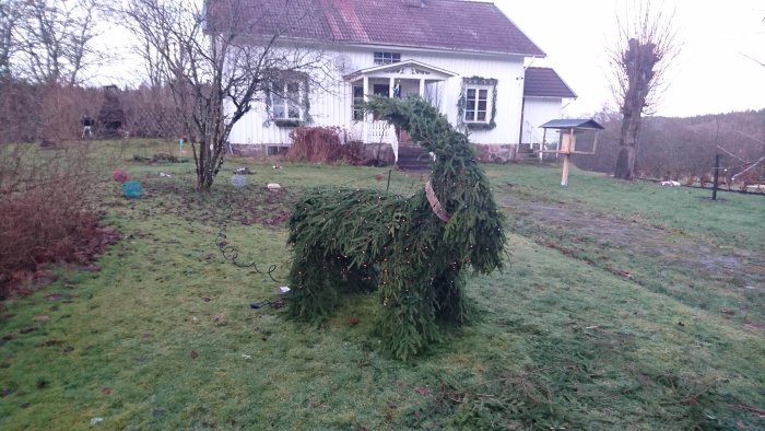
[[[652,105],[663,84],[667,67],[679,54],[672,15],[637,2],[626,20],[619,20],[619,39],[610,50],[615,75],[613,92],[622,113],[622,130],[614,177],[632,179],[640,118]]]

